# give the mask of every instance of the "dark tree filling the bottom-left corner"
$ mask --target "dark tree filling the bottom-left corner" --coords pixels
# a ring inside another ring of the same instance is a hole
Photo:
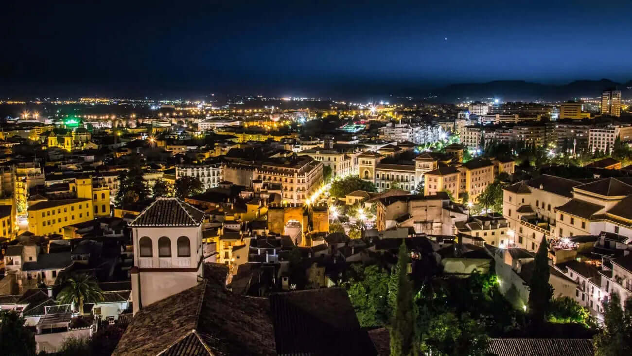
[[[0,310],[0,350],[7,356],[35,355],[35,335],[13,310]]]

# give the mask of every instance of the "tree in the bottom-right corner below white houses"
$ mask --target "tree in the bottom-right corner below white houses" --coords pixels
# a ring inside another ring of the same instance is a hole
[[[632,354],[632,297],[626,300],[625,311],[617,293],[604,304],[604,327],[595,336],[595,355],[619,356]]]

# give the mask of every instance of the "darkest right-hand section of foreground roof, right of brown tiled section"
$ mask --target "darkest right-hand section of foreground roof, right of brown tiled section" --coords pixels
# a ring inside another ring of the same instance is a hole
[[[377,355],[343,288],[278,293],[270,307],[277,355]]]

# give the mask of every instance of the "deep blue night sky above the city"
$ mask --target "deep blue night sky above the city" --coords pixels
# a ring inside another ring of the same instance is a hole
[[[3,1],[0,89],[381,94],[632,79],[632,1]]]

